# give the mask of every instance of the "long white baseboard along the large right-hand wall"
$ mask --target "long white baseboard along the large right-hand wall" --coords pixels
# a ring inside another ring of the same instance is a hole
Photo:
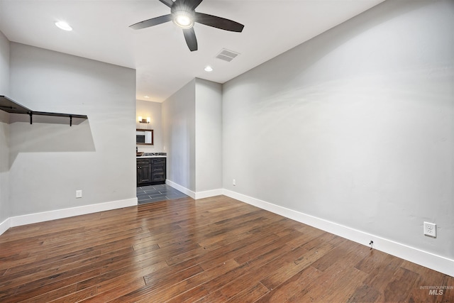
[[[241,202],[257,206],[260,209],[265,209],[289,219],[314,226],[315,228],[319,228],[323,231],[327,231],[328,233],[333,233],[337,236],[347,238],[348,240],[355,241],[365,246],[368,246],[370,240],[372,240],[374,241],[373,248],[377,250],[381,250],[384,253],[395,255],[396,257],[402,258],[404,260],[408,260],[410,262],[425,266],[426,268],[431,268],[432,270],[443,272],[445,275],[454,277],[454,260],[445,258],[441,255],[428,253],[426,251],[420,250],[419,248],[406,246],[405,244],[390,241],[380,236],[365,233],[364,231],[358,231],[357,229],[350,228],[348,226],[336,224],[334,222],[304,214],[299,211],[294,211],[292,209],[287,209],[285,207],[265,202],[260,199],[248,197],[244,194],[238,194],[238,192],[232,192],[228,189],[223,189],[223,194],[227,197],[231,197]]]

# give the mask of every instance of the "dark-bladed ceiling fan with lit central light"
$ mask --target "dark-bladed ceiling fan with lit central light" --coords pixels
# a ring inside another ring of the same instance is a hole
[[[228,20],[226,18],[196,12],[196,7],[199,6],[203,0],[159,1],[170,7],[170,14],[138,22],[129,27],[138,30],[140,28],[157,26],[158,24],[165,23],[167,21],[173,21],[177,26],[183,29],[184,39],[186,40],[189,50],[192,52],[197,50],[197,39],[193,28],[195,22],[206,26],[212,26],[214,28],[220,28],[224,31],[234,31],[238,33],[243,31],[243,24]]]

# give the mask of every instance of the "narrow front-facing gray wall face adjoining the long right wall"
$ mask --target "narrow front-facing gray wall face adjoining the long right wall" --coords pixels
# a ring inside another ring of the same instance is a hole
[[[222,85],[196,79],[196,192],[222,188]]]

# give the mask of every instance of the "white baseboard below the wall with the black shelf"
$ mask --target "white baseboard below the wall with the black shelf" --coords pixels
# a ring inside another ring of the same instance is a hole
[[[7,219],[9,227],[21,226],[26,224],[33,224],[38,222],[50,221],[55,219],[67,218],[70,216],[79,216],[82,214],[92,214],[98,211],[109,211],[111,209],[121,209],[123,207],[137,205],[137,198],[118,200],[113,202],[105,202],[99,204],[83,205],[71,207],[69,209],[57,209],[55,211],[43,211],[36,214],[25,214],[22,216],[12,216]],[[4,221],[5,223],[6,221]],[[3,224],[1,224],[0,231],[3,231]],[[6,228],[6,229],[8,229]],[[6,231],[6,229],[4,231]],[[3,231],[3,232],[4,232]],[[0,232],[3,233],[3,232]]]

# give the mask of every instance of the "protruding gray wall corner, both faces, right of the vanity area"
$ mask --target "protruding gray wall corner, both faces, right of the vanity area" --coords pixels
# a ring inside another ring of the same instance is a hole
[[[222,85],[193,79],[162,103],[167,180],[192,192],[222,188]]]

